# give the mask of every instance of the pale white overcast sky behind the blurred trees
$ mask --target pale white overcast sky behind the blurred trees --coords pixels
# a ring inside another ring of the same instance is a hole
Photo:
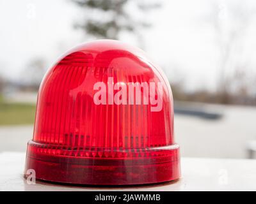
[[[216,1],[220,9],[216,15],[224,20],[230,1]],[[256,7],[253,0],[237,2],[248,8]],[[216,32],[207,21],[211,11],[209,0],[166,0],[162,8],[145,16],[152,22],[150,29],[142,31],[145,51],[163,67],[170,80],[184,78],[188,89],[214,89],[220,73]],[[90,40],[72,27],[81,18],[81,10],[68,0],[1,0],[0,73],[19,78],[31,59],[40,57],[50,66],[69,48]],[[239,55],[252,67],[256,64],[255,36],[252,15],[241,43],[243,53]],[[121,40],[138,45],[128,34],[122,34]]]

